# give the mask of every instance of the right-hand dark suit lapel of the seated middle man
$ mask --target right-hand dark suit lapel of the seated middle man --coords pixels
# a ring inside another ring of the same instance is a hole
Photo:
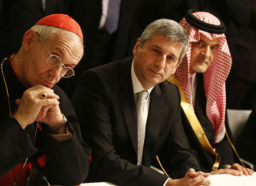
[[[163,108],[165,104],[160,95],[161,89],[159,85],[156,85],[151,92],[150,108],[148,110],[147,116],[145,142],[142,157],[143,165],[148,164],[149,166],[151,153],[155,148],[159,136],[159,130],[162,123]]]

